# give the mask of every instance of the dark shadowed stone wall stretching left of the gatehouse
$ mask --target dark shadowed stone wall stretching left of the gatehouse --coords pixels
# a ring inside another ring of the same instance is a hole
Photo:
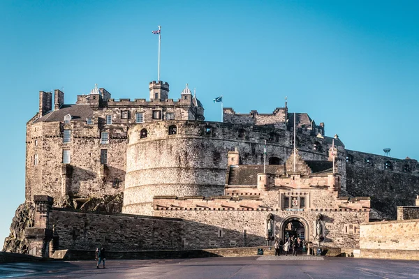
[[[182,248],[182,220],[53,208],[49,223],[57,230],[58,250]]]

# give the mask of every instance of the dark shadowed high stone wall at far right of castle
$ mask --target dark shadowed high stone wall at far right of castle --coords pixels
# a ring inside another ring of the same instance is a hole
[[[419,195],[418,161],[400,160],[346,150],[346,191],[371,197],[371,206],[386,218],[397,217],[397,206],[415,204]]]

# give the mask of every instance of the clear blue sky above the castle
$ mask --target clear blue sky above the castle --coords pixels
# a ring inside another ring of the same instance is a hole
[[[196,88],[236,112],[307,112],[346,149],[419,159],[418,1],[0,1],[0,248],[24,202],[25,123],[38,92],[65,103],[94,84],[148,98],[157,79],[177,99]]]

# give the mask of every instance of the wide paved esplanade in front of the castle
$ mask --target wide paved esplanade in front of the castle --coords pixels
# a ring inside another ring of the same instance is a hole
[[[302,257],[291,260],[292,256],[279,258],[109,260],[106,269],[96,269],[93,260],[0,264],[0,278],[419,278],[419,263],[414,261],[339,257],[320,260]]]

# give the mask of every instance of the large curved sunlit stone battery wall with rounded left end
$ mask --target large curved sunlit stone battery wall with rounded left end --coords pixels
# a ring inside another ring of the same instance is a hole
[[[175,128],[176,133],[170,135]],[[228,151],[240,151],[242,164],[284,164],[293,150],[293,133],[274,126],[244,126],[207,121],[160,121],[128,130],[124,213],[152,215],[154,195],[223,195]],[[330,138],[297,135],[306,160],[328,160]],[[318,149],[313,150],[314,144]],[[345,174],[344,146],[335,141],[339,172]],[[339,152],[338,152],[339,156]],[[272,160],[274,158],[275,160]],[[344,179],[342,179],[344,181]]]

